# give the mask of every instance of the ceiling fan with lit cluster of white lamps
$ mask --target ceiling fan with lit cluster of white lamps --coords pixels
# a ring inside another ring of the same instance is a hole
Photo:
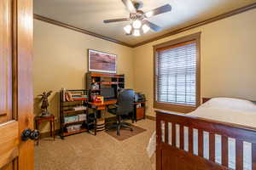
[[[139,10],[139,8],[143,8],[142,1],[122,0],[122,2],[125,4],[125,7],[129,10],[130,17],[113,20],[103,20],[103,22],[112,23],[132,20],[133,22],[131,25],[124,27],[126,35],[140,36],[142,32],[146,33],[150,29],[152,29],[153,31],[160,31],[160,26],[156,26],[154,23],[149,22],[146,19],[148,19],[151,16],[163,14],[172,10],[171,5],[166,4],[159,8],[154,8],[153,10],[150,10],[148,12],[143,12],[142,10]]]

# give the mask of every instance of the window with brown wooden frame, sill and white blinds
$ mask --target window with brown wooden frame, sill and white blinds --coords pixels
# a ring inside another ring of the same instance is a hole
[[[200,104],[200,33],[154,46],[154,107],[189,112]]]

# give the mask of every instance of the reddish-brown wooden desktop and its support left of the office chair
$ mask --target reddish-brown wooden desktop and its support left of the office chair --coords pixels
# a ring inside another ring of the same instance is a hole
[[[105,122],[102,122],[102,124],[97,124],[98,111],[106,111],[108,105],[114,105],[116,103],[117,103],[116,99],[108,100],[104,102],[88,102],[88,105],[90,105],[90,108],[94,110],[93,111],[94,112],[94,135],[96,135],[97,131],[102,131],[105,129]]]

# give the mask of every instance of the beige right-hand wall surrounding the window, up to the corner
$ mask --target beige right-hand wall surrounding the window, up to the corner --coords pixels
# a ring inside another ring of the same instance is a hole
[[[201,96],[256,100],[256,9],[149,42],[134,50],[134,87],[153,108],[153,45],[201,31]]]

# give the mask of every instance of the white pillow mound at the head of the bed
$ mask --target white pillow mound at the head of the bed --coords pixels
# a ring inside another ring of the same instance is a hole
[[[238,111],[256,111],[256,105],[246,99],[212,98],[202,107],[214,107],[218,109],[230,109]]]

